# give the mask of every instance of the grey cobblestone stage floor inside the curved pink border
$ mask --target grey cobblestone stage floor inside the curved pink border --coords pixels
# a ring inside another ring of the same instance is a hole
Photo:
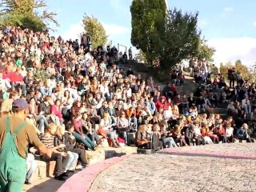
[[[132,155],[98,174],[90,191],[256,191],[255,148],[234,143]]]

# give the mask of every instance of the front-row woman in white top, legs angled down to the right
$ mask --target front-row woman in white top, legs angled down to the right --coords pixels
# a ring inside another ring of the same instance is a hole
[[[113,131],[112,126],[114,125],[111,124],[111,118],[108,112],[104,112],[103,118],[101,119],[99,126],[100,128],[98,129],[98,134],[102,135],[103,138],[109,138],[110,146],[113,145],[114,147],[118,148],[119,147],[118,137]]]

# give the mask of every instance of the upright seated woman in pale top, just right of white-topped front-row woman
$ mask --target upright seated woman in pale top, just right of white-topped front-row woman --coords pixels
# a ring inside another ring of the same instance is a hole
[[[121,135],[121,137],[125,140],[127,144],[127,132],[129,132],[129,122],[126,118],[125,111],[122,111],[120,117],[118,118],[117,128],[118,134]]]

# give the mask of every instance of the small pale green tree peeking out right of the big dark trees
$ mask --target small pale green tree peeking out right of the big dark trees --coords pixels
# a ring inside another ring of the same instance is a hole
[[[196,53],[196,57],[199,60],[205,60],[207,62],[213,62],[215,49],[214,47],[210,47],[206,44],[206,40],[204,38],[200,38],[200,42],[198,44],[198,52]]]

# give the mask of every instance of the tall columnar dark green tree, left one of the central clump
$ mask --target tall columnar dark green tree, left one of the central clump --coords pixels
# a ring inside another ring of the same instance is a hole
[[[165,0],[134,0],[130,6],[131,43],[146,56],[147,62],[153,64],[162,49],[165,31]]]

